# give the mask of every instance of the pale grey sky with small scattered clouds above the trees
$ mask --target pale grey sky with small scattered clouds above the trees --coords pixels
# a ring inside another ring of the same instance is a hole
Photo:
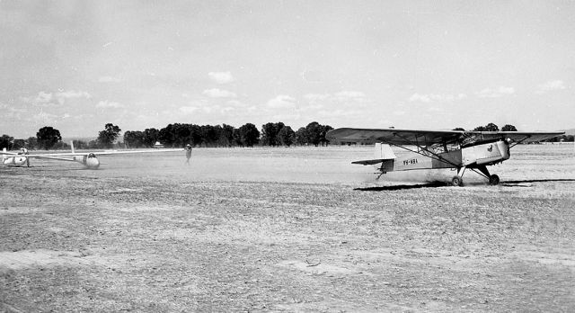
[[[573,1],[0,0],[0,134],[575,128]]]

